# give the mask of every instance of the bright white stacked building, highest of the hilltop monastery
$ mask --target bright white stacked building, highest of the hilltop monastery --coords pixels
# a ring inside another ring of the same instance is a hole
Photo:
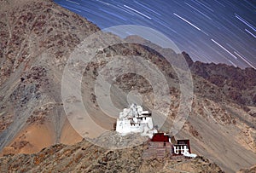
[[[151,114],[148,111],[143,111],[143,107],[131,104],[130,108],[125,108],[119,113],[119,118],[116,122],[116,131],[122,136],[130,133],[141,133],[142,136],[152,138],[157,130],[154,129]]]

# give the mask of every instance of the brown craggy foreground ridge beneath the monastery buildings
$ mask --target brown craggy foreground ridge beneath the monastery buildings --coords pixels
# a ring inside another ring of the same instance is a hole
[[[129,138],[126,138],[126,140]],[[1,172],[223,172],[205,158],[143,160],[143,145],[107,150],[87,141],[73,146],[58,144],[35,154],[0,158]]]

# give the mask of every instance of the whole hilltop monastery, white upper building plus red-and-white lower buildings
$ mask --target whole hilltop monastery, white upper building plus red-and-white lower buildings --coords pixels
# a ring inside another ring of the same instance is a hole
[[[130,108],[125,108],[123,112],[119,112],[119,118],[116,122],[116,131],[121,136],[131,133],[140,133],[141,136],[150,138],[149,144],[152,147],[144,153],[147,157],[154,152],[164,157],[167,153],[172,153],[173,156],[183,155],[189,158],[195,158],[196,154],[190,152],[189,140],[177,140],[172,145],[171,137],[164,133],[158,133],[154,129],[151,113],[143,111],[143,107],[131,104]],[[172,149],[171,149],[172,148]],[[153,152],[154,151],[154,152]],[[163,153],[163,151],[165,151]],[[157,154],[156,154],[157,155]]]

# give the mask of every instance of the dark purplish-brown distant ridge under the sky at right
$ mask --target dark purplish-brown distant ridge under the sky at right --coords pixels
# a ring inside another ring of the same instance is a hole
[[[192,72],[217,85],[230,101],[255,107],[256,70],[240,69],[225,64],[206,64],[199,61],[190,66]]]

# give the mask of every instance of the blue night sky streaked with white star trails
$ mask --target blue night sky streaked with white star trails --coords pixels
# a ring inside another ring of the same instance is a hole
[[[256,0],[55,0],[101,29],[148,26],[193,61],[256,67]]]

